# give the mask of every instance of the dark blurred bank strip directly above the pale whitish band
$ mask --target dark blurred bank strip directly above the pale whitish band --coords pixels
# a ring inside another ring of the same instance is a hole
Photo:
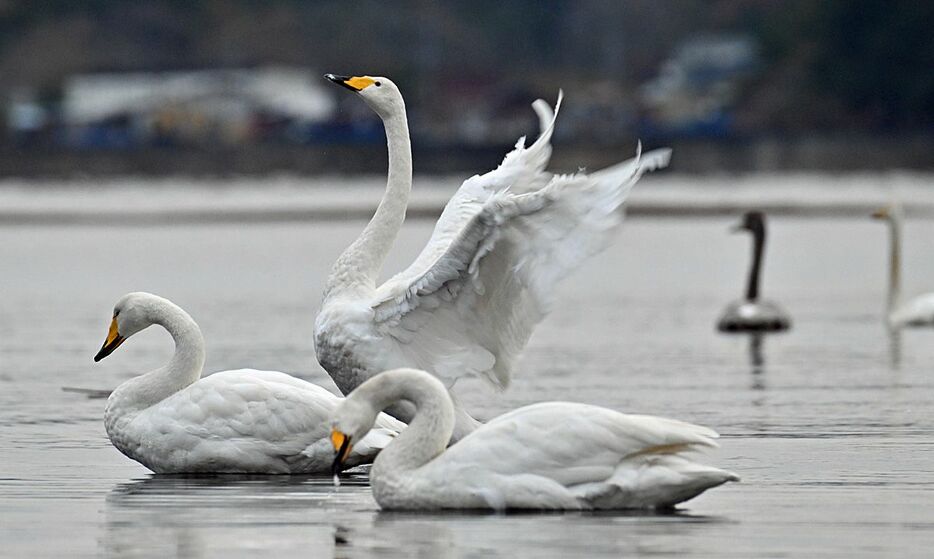
[[[529,130],[534,138],[534,128]],[[632,157],[628,143],[555,144],[552,168],[597,169]],[[873,172],[911,169],[934,172],[934,135],[807,135],[754,138],[643,138],[643,147],[674,150],[673,165],[684,173]],[[469,176],[493,169],[512,144],[432,145],[415,141],[416,171]],[[0,178],[110,178],[256,176],[276,173],[368,175],[385,172],[382,132],[365,144],[255,144],[238,147],[164,146],[149,149],[68,150],[0,148]]]

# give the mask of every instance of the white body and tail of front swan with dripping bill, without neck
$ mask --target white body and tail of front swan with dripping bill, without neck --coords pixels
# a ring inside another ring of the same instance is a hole
[[[716,437],[680,421],[550,402],[494,419],[419,475],[442,492],[437,508],[668,507],[737,479],[690,460]],[[458,480],[457,495],[445,479]]]

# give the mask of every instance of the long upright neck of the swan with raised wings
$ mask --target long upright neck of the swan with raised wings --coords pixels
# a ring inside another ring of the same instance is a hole
[[[401,98],[395,110],[383,117],[383,126],[389,146],[386,192],[373,219],[334,264],[326,296],[348,289],[375,288],[383,261],[405,221],[405,209],[412,190],[412,147]]]

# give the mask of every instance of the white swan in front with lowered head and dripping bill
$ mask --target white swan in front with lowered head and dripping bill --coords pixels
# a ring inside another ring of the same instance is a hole
[[[415,416],[370,470],[384,509],[666,508],[739,479],[689,458],[716,446],[706,427],[570,402],[513,410],[446,449],[454,404],[438,379],[415,369],[379,374],[338,405],[335,472],[376,414],[400,400]]]

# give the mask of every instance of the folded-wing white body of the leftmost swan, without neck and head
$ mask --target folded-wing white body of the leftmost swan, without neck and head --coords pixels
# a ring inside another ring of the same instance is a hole
[[[156,473],[324,473],[333,459],[329,418],[338,401],[285,373],[223,371],[109,423],[107,431],[114,446]],[[361,441],[357,463],[388,443],[381,440],[386,419]]]

